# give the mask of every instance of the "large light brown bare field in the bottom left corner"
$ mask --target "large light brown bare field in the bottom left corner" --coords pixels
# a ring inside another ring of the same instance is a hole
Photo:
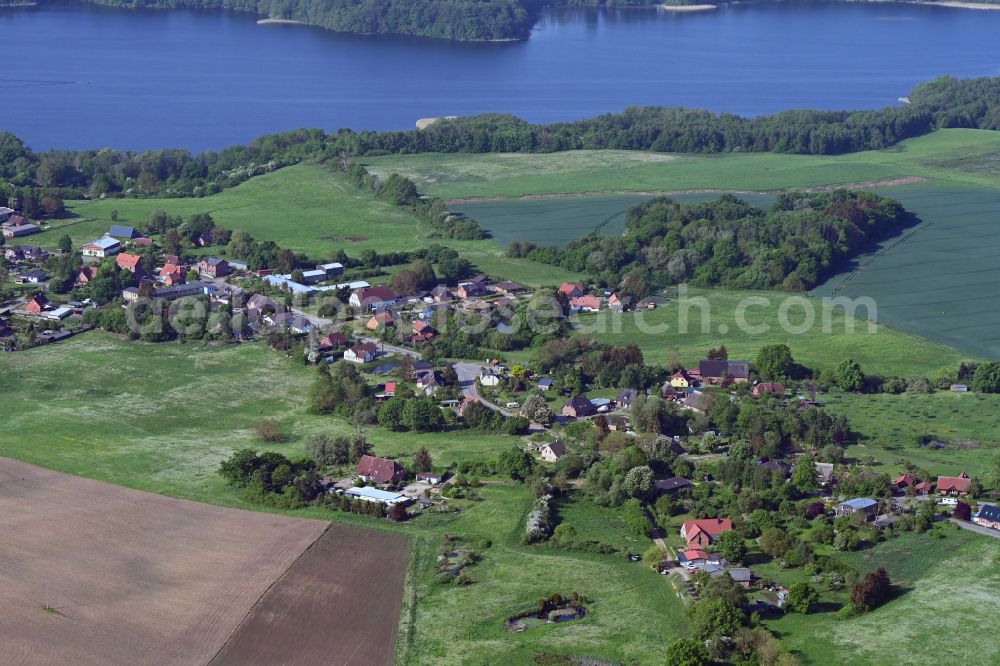
[[[0,458],[0,663],[205,664],[326,526]]]

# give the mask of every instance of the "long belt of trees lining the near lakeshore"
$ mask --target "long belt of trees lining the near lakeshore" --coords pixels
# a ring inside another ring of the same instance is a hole
[[[939,78],[918,86],[910,100],[874,111],[785,111],[753,118],[661,107],[549,125],[484,115],[405,132],[295,130],[197,155],[111,149],[35,153],[13,134],[0,132],[0,205],[46,196],[206,196],[283,166],[335,162],[343,155],[579,148],[826,155],[880,149],[937,128],[1000,130],[1000,78]]]

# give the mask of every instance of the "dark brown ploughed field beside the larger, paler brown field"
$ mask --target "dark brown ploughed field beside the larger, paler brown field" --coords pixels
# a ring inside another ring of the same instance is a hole
[[[212,665],[391,664],[405,573],[403,537],[331,525]]]

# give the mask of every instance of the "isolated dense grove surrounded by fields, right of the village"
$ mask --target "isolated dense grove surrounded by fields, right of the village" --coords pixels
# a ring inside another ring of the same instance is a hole
[[[914,221],[870,192],[783,194],[770,211],[732,195],[702,204],[658,197],[629,210],[622,236],[590,235],[563,250],[516,243],[511,254],[590,274],[633,300],[680,283],[798,291]]]

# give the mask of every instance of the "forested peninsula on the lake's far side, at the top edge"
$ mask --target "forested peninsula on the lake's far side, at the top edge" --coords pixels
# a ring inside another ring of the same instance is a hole
[[[112,7],[232,9],[337,32],[462,41],[525,39],[535,0],[89,0]]]

